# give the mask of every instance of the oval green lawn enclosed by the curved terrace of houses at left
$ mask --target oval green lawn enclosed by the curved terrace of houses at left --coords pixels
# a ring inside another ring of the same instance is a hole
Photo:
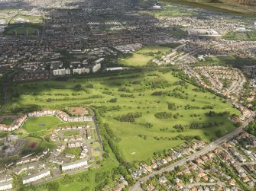
[[[62,123],[56,116],[31,117],[22,126],[29,133],[44,132]]]

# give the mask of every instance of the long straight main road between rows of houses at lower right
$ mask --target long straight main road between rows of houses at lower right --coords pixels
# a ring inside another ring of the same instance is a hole
[[[148,174],[146,177],[142,177],[141,179],[139,179],[134,186],[131,186],[131,188],[129,189],[130,191],[140,191],[141,189],[141,183],[144,183],[145,181],[147,181],[149,178],[154,177],[155,175],[159,174],[159,173],[164,173],[166,171],[171,171],[174,170],[174,167],[178,167],[178,166],[182,166],[185,165],[186,162],[189,161],[193,161],[194,159],[202,156],[203,154],[207,154],[209,151],[214,150],[215,148],[219,147],[220,145],[222,145],[222,143],[224,142],[228,142],[230,141],[232,138],[235,137],[235,135],[238,135],[239,133],[241,133],[243,131],[243,129],[245,128],[245,126],[248,126],[248,123],[251,123],[251,121],[253,121],[255,116],[255,112],[251,115],[251,117],[249,119],[247,119],[240,127],[238,127],[237,129],[235,129],[234,131],[228,133],[227,135],[224,135],[223,137],[215,140],[214,142],[211,142],[209,145],[207,145],[205,148],[203,148],[200,151],[197,151],[194,154],[191,154],[190,156],[188,156],[187,158],[183,158],[180,161],[177,161],[173,164],[170,164],[167,167],[161,168],[160,170],[154,171],[153,173]]]

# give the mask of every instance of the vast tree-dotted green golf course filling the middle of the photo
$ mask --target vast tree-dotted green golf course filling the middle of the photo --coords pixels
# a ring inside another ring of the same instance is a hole
[[[126,161],[146,160],[151,158],[154,151],[164,148],[173,148],[184,140],[172,140],[177,135],[199,135],[206,142],[217,138],[216,131],[221,130],[222,135],[235,129],[227,116],[206,116],[209,110],[201,107],[212,106],[215,112],[229,111],[238,114],[230,103],[223,103],[219,97],[206,92],[198,92],[191,84],[185,86],[175,85],[180,81],[171,72],[140,72],[130,75],[117,75],[115,77],[70,79],[62,81],[38,81],[24,84],[16,84],[21,90],[21,97],[15,100],[17,103],[29,104],[31,102],[44,108],[63,108],[79,105],[90,105],[97,108],[105,123],[109,123],[114,132],[118,148]],[[76,84],[83,86],[82,91],[76,91]],[[92,89],[84,88],[87,84],[93,84]],[[168,84],[165,86],[164,84]],[[47,88],[46,88],[47,87]],[[177,91],[187,95],[187,100],[173,96],[152,96],[155,91]],[[65,94],[65,96],[63,96]],[[69,97],[69,99],[66,99]],[[52,98],[50,102],[46,100]],[[112,99],[116,98],[115,103]],[[177,110],[168,110],[167,103],[176,103]],[[184,107],[190,104],[199,109],[186,110]],[[119,122],[115,117],[127,113],[141,113],[134,123]],[[177,119],[158,119],[155,113],[171,112],[179,113]],[[196,115],[196,116],[195,116]],[[44,120],[45,121],[45,120]],[[180,124],[189,126],[191,123],[222,122],[222,125],[204,129],[186,129],[178,132],[173,126]],[[40,128],[37,122],[36,129]],[[45,122],[44,122],[45,123]],[[151,128],[147,124],[151,123]],[[35,124],[35,123],[34,123]],[[26,127],[33,132],[32,127]],[[44,127],[43,127],[44,128]],[[163,130],[164,129],[164,130]],[[146,137],[146,138],[141,138]]]

